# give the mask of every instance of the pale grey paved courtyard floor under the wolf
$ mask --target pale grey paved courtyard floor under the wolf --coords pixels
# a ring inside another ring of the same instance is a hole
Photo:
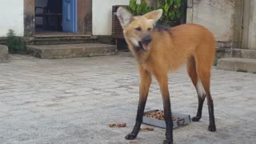
[[[256,141],[256,74],[213,69],[212,96],[217,131],[202,120],[174,130],[174,143]],[[130,143],[139,77],[127,53],[94,58],[42,60],[12,55],[0,64],[0,143]],[[172,110],[196,114],[198,99],[183,67],[170,74]],[[162,109],[154,80],[146,110]],[[109,123],[126,122],[125,128]],[[134,141],[160,144],[165,130],[142,131]]]

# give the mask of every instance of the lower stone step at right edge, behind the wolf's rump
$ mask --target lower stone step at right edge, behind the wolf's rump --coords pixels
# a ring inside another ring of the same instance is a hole
[[[221,58],[218,59],[218,70],[232,70],[256,74],[256,59],[252,58]]]

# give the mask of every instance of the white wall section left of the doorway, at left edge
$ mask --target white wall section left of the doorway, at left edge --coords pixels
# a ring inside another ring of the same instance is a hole
[[[1,0],[0,4],[0,37],[5,37],[8,30],[14,30],[18,36],[24,34],[23,1]]]

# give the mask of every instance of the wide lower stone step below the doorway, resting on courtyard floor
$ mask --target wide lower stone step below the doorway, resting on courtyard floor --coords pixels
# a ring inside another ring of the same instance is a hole
[[[116,54],[116,46],[101,43],[28,45],[27,51],[36,58],[79,58]]]

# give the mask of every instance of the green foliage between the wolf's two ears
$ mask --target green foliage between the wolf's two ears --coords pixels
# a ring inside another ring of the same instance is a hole
[[[150,12],[153,8],[147,6],[146,0],[141,0],[140,4],[137,4],[137,0],[130,0],[128,10],[131,14],[142,15]]]

